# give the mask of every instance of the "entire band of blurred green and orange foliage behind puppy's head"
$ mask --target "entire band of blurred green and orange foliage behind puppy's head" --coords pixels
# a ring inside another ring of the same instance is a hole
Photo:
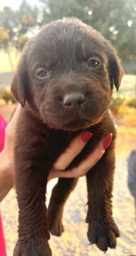
[[[39,0],[42,8],[25,0],[18,10],[0,11],[0,48],[21,51],[43,24],[77,17],[110,40],[122,60],[136,59],[136,0]],[[10,58],[10,56],[9,56]]]

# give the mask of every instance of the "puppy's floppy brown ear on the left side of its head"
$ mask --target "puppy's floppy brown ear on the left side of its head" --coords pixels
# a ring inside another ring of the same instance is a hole
[[[26,103],[27,90],[28,90],[28,71],[26,67],[26,56],[25,54],[23,54],[18,64],[17,71],[11,82],[11,93],[14,95],[15,99],[18,102],[20,102],[23,108]]]

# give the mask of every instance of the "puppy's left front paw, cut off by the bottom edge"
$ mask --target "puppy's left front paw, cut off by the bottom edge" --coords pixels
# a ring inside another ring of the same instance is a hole
[[[25,247],[20,244],[20,241],[17,241],[13,256],[52,256],[52,253],[48,243],[42,246],[27,243]]]

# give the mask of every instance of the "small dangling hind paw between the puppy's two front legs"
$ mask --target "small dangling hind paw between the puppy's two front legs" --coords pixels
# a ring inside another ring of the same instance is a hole
[[[48,214],[48,229],[50,230],[51,235],[61,236],[64,232],[61,216]]]

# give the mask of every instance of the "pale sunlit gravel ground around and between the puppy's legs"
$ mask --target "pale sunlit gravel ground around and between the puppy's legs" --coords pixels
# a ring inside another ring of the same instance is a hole
[[[124,159],[116,161],[116,172],[113,191],[113,215],[121,230],[116,250],[108,250],[106,256],[136,256],[136,222],[133,198],[127,189],[127,163]],[[48,184],[48,198],[55,181]],[[61,238],[51,237],[50,245],[53,256],[102,256],[95,245],[89,245],[86,233],[86,184],[85,178],[71,194],[64,212],[63,224],[65,233]],[[74,207],[73,207],[74,206]],[[12,189],[1,204],[5,229],[7,254],[13,255],[17,240],[18,208],[15,192]]]

